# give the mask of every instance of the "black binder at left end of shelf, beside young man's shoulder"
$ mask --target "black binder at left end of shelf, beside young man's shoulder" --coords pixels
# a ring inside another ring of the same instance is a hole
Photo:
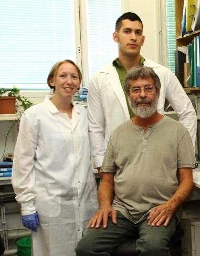
[[[175,51],[175,75],[182,86],[184,86],[184,63],[186,62],[186,54]]]

